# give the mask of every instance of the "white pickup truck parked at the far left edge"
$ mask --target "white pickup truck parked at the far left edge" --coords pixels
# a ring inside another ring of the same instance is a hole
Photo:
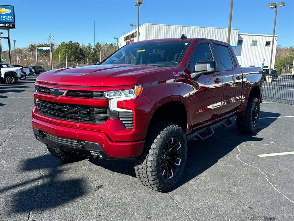
[[[1,75],[3,77],[3,82],[8,84],[13,84],[18,79],[24,77],[24,70],[21,67],[12,67],[11,64],[0,64]]]

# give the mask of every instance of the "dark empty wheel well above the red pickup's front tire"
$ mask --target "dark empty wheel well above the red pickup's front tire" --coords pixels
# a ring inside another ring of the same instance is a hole
[[[168,122],[179,125],[184,132],[187,130],[187,111],[181,101],[170,101],[161,105],[154,112],[151,123]]]

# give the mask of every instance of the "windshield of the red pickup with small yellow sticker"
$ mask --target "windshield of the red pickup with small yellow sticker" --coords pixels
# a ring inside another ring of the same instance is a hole
[[[127,44],[102,62],[102,64],[155,65],[158,67],[176,66],[183,59],[189,44],[190,42]]]

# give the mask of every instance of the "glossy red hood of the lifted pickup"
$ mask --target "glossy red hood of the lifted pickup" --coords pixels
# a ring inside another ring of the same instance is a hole
[[[173,68],[173,67],[169,67]],[[153,65],[92,65],[51,70],[36,79],[39,83],[70,86],[134,85],[139,75],[165,70]]]

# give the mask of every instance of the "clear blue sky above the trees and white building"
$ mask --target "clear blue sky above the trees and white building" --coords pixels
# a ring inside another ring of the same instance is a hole
[[[278,0],[276,0],[278,1]],[[113,37],[132,30],[130,23],[137,24],[135,0],[1,0],[1,4],[14,5],[16,29],[10,31],[16,39],[16,47],[31,43],[48,42],[54,35],[54,43],[67,41],[94,43],[94,20],[96,42],[113,42]],[[232,28],[240,33],[272,34],[274,9],[270,0],[234,0]],[[278,44],[294,45],[294,1],[285,1],[278,8],[276,33]],[[196,0],[144,0],[140,6],[140,25],[144,23],[174,24],[207,27],[228,27],[230,1]],[[5,30],[2,30],[5,35]],[[180,37],[180,36],[179,36]],[[3,50],[7,42],[2,39]]]

